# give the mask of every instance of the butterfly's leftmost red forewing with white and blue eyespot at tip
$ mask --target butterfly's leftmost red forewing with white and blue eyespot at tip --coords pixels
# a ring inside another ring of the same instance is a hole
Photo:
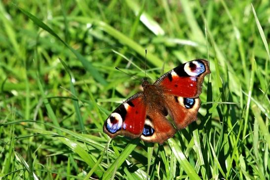
[[[137,93],[117,107],[105,121],[103,131],[111,138],[117,135],[140,137],[146,117],[146,105],[143,98],[143,93]]]

